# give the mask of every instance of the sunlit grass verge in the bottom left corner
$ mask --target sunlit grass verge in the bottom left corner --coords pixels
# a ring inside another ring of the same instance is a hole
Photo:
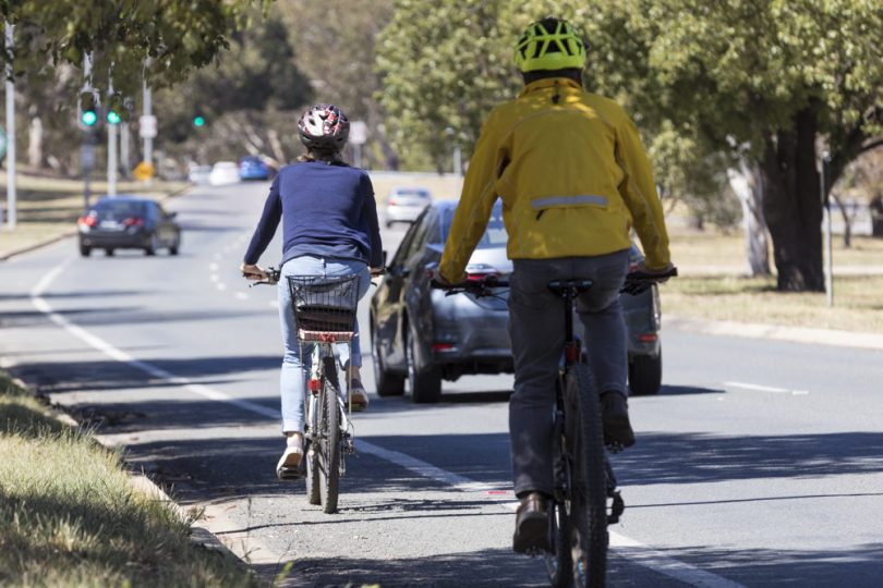
[[[0,371],[0,585],[261,586]]]

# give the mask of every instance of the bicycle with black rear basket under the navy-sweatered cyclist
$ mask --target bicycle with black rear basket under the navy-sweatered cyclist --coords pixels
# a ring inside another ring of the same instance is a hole
[[[279,270],[266,271],[268,279],[256,283],[278,283]],[[344,457],[355,453],[352,406],[348,402],[351,382],[344,377],[341,387],[338,368],[347,373],[359,304],[359,277],[291,275],[288,286],[301,357],[309,352],[310,372],[304,394],[305,458],[297,468],[282,468],[279,477],[305,478],[310,504],[320,504],[324,512],[331,514],[337,512],[340,477],[346,474]]]

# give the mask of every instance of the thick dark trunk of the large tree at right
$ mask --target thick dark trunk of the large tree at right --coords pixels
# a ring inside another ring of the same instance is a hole
[[[763,212],[784,292],[824,292],[822,197],[815,168],[817,106],[795,117],[794,128],[766,137],[760,167]]]

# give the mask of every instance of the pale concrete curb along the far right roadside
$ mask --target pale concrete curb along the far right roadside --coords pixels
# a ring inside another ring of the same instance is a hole
[[[663,328],[702,334],[772,339],[837,347],[883,351],[883,334],[857,331],[783,327],[725,320],[695,320],[674,315],[663,317]]]

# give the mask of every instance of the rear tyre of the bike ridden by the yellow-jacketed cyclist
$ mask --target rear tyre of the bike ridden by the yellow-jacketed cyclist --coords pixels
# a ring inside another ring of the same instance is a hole
[[[601,405],[589,368],[571,366],[565,376],[565,426],[573,456],[570,524],[573,583],[600,588],[607,575],[607,491]]]

